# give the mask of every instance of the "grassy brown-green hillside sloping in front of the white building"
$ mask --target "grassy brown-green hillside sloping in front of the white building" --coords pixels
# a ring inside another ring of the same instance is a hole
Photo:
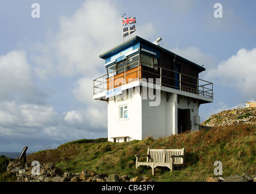
[[[151,168],[135,167],[137,153],[152,149],[185,147],[185,167],[170,172],[156,169],[156,181],[205,181],[213,176],[215,161],[223,162],[223,177],[256,174],[256,126],[249,124],[214,127],[212,130],[182,133],[167,138],[146,138],[142,141],[113,143],[101,139],[80,139],[67,142],[57,149],[47,149],[27,156],[27,161],[54,162],[65,172],[91,169],[111,175],[151,175]]]

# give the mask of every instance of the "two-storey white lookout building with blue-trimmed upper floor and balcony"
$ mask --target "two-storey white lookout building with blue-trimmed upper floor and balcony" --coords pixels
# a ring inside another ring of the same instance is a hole
[[[199,129],[199,105],[213,102],[206,70],[135,36],[100,55],[106,75],[94,79],[94,99],[108,103],[108,141],[159,138]]]

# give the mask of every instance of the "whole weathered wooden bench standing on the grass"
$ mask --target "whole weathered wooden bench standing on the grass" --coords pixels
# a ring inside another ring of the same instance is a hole
[[[173,171],[173,167],[184,166],[184,153],[183,149],[150,149],[148,148],[147,154],[136,154],[136,169],[139,166],[150,166],[152,168],[152,175],[154,175],[154,168],[157,166],[168,167]],[[147,156],[147,162],[139,162],[139,158]]]

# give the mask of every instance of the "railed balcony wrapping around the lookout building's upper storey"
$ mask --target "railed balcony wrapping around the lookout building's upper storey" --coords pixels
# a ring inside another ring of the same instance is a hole
[[[148,78],[153,78],[154,84],[159,84],[163,87],[213,99],[212,82],[141,61],[133,62],[132,64],[114,70],[114,72],[94,79],[94,95],[99,95],[107,90],[135,81],[145,81]],[[156,82],[156,78],[159,78],[158,80],[160,81]]]

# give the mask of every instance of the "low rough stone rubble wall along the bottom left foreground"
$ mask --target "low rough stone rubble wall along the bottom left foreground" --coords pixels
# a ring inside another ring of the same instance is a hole
[[[7,172],[16,173],[16,182],[154,182],[149,176],[136,176],[129,178],[128,175],[117,176],[116,174],[98,174],[93,170],[83,169],[80,173],[63,172],[54,163],[40,164],[40,173],[35,175],[33,166],[22,163],[18,159],[10,161]],[[33,175],[34,174],[34,175]]]

